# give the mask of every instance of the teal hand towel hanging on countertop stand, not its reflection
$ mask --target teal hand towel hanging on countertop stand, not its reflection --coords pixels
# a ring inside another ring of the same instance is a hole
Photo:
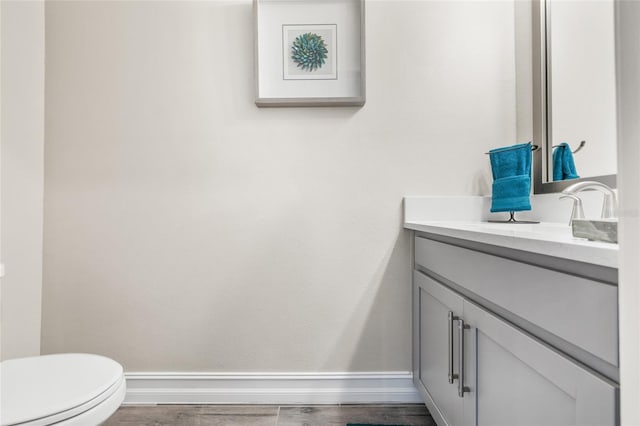
[[[491,212],[531,210],[531,143],[492,149],[489,160]]]

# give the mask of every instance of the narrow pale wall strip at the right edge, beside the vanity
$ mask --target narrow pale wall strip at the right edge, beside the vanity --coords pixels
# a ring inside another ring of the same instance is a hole
[[[640,424],[640,2],[616,2],[621,424]]]

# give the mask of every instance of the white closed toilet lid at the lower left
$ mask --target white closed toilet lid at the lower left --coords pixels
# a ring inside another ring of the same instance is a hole
[[[117,362],[99,355],[57,354],[0,363],[0,424],[14,425],[85,405],[122,380]]]

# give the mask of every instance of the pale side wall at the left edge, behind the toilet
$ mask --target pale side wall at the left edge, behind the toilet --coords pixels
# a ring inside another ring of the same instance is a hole
[[[40,353],[44,2],[2,1],[0,359]]]

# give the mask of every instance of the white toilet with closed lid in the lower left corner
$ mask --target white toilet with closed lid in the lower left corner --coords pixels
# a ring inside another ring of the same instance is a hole
[[[112,359],[55,354],[0,363],[0,426],[92,426],[124,400],[124,371]]]

